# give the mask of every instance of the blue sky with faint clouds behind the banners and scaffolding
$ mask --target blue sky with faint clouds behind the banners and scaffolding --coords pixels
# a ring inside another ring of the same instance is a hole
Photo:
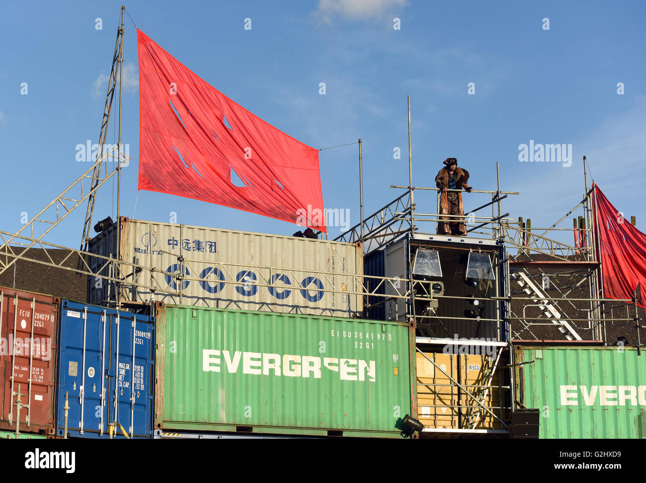
[[[138,1],[132,19],[226,96],[316,148],[362,138],[366,214],[408,184],[406,95],[412,104],[413,184],[432,186],[455,157],[475,189],[495,189],[504,212],[548,227],[583,198],[583,165],[642,231],[646,152],[646,4],[415,0]],[[98,141],[121,2],[12,3],[3,7],[0,227],[15,232],[89,163],[76,146]],[[96,30],[96,19],[102,30]],[[245,30],[245,18],[251,30]],[[400,30],[393,19],[400,19]],[[549,19],[544,30],[543,19]],[[290,223],[155,192],[137,196],[136,31],[126,17],[121,214],[245,231],[291,234]],[[319,83],[326,94],[319,94]],[[21,83],[28,92],[21,94]],[[474,83],[475,94],[468,94]],[[623,83],[624,94],[618,94]],[[109,140],[114,138],[110,128]],[[572,145],[571,166],[521,163],[519,145]],[[393,149],[401,148],[401,159]],[[324,204],[359,222],[357,145],[320,152]],[[116,187],[114,188],[116,190]],[[487,195],[465,194],[468,209]],[[512,198],[512,197],[510,197]],[[435,209],[430,196],[417,208]],[[95,218],[116,214],[113,185]],[[78,247],[85,204],[47,240]],[[571,221],[565,227],[571,226]],[[426,227],[421,231],[431,231]],[[330,227],[331,237],[342,227]],[[568,241],[570,241],[568,239]]]

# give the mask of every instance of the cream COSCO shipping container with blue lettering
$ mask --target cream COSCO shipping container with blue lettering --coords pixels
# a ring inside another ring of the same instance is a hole
[[[115,223],[90,241],[89,251],[116,258],[116,234]],[[363,273],[360,243],[122,217],[120,245],[122,260],[155,269],[151,276],[123,265],[125,283],[154,292],[126,286],[121,300],[342,317],[360,316],[363,309],[355,276]],[[90,258],[90,267],[114,275],[103,259]],[[88,297],[109,305],[114,284],[89,278]]]

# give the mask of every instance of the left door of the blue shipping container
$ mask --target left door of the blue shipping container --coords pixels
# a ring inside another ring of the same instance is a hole
[[[75,302],[61,307],[58,365],[57,435],[64,435],[65,395],[68,436],[101,437],[106,433],[106,311]]]

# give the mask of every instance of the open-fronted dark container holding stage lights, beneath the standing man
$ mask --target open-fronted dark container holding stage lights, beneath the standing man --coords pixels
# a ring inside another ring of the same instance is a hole
[[[368,254],[364,274],[401,280],[399,286],[384,283],[386,296],[407,293],[413,279],[419,336],[505,341],[508,302],[493,299],[508,296],[505,253],[505,246],[496,240],[406,234]],[[383,312],[375,308],[372,315],[403,322],[412,314],[406,298],[386,298],[383,307]]]

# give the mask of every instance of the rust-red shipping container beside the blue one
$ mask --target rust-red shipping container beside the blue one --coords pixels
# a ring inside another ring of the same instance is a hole
[[[54,433],[59,302],[50,295],[0,287],[0,429],[13,432],[19,424],[21,433]]]

